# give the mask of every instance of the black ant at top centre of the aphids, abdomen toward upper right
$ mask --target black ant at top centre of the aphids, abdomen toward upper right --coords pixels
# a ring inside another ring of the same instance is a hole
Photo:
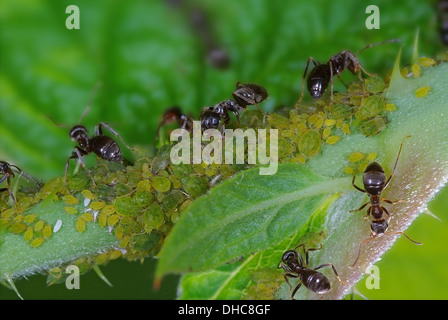
[[[220,102],[214,107],[205,107],[199,116],[201,120],[202,131],[207,129],[217,129],[221,124],[221,132],[224,131],[225,125],[230,122],[229,112],[232,112],[239,123],[239,114],[246,109],[248,105],[256,105],[261,110],[258,103],[263,102],[268,93],[265,88],[254,83],[242,84],[237,82],[236,90],[232,93],[233,98]]]

